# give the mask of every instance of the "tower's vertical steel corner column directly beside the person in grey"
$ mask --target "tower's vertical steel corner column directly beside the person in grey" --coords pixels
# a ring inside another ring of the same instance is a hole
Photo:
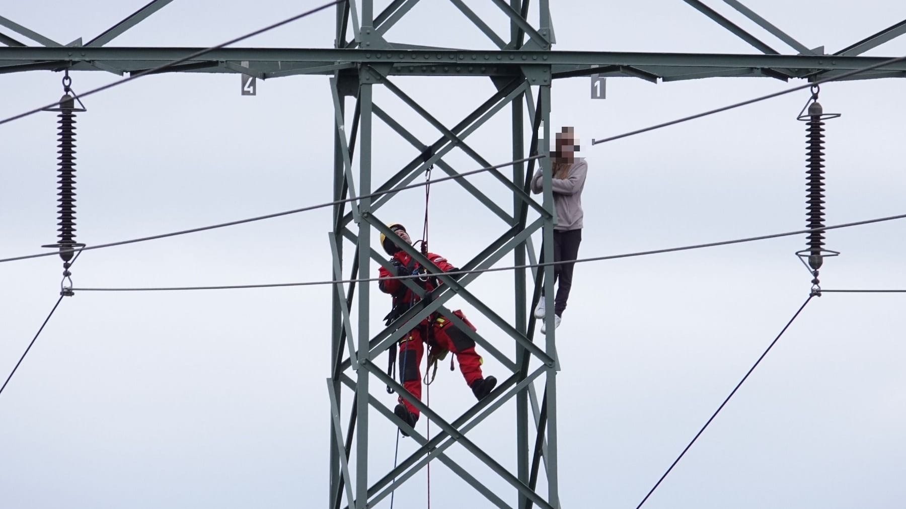
[[[545,4],[545,2],[542,2]],[[544,13],[542,14],[544,16]],[[541,142],[541,153],[550,153],[551,150],[551,86],[542,85],[538,87],[538,96],[541,99],[541,115],[544,121],[545,139]],[[545,175],[545,209],[554,211],[554,191],[551,183],[551,160],[549,158],[541,159]],[[544,245],[545,245],[545,262],[554,261],[554,222],[557,220],[556,214],[552,220],[545,221],[544,226]],[[554,360],[557,358],[556,343],[554,341],[554,265],[545,266],[545,330],[546,342],[545,352]],[[557,494],[557,369],[558,363],[547,368],[547,385],[545,397],[547,398],[547,500],[554,507],[559,505],[559,496]]]

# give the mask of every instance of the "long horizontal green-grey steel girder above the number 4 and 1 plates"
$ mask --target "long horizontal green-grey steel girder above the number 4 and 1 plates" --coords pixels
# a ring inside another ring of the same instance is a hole
[[[0,72],[4,66],[37,62],[69,62],[73,70],[96,70],[100,62],[125,71],[136,72],[172,62],[201,48],[140,47],[0,47]],[[808,72],[849,71],[888,60],[887,57],[843,55],[774,55],[728,53],[624,53],[563,51],[464,51],[464,50],[360,50],[360,49],[283,49],[224,48],[185,62],[170,72],[237,72],[226,62],[249,62],[252,72],[263,77],[291,74],[333,74],[350,64],[390,64],[394,75],[516,75],[523,66],[539,65],[552,72],[577,71],[587,67],[626,66],[670,79],[688,74],[685,69],[707,68],[733,76],[753,75],[752,70],[795,70]],[[12,71],[14,68],[11,68]],[[27,69],[27,68],[26,68]],[[906,62],[882,68],[906,71]],[[164,71],[168,72],[168,71]],[[676,79],[676,78],[674,78]]]

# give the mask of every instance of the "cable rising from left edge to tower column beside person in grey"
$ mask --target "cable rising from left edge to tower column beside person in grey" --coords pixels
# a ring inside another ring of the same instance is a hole
[[[509,162],[502,163],[502,164],[498,164],[498,165],[495,165],[495,166],[489,166],[489,167],[486,167],[486,168],[473,169],[473,170],[471,170],[471,171],[465,171],[465,172],[459,173],[459,174],[457,174],[457,175],[451,175],[451,176],[449,176],[449,177],[434,178],[434,179],[429,180],[429,181],[418,182],[418,183],[416,183],[416,184],[410,184],[410,185],[408,185],[408,186],[397,187],[397,188],[389,189],[389,190],[386,190],[386,191],[377,191],[377,192],[374,192],[374,193],[371,193],[371,194],[368,194],[368,195],[362,195],[362,196],[360,196],[360,197],[343,198],[343,199],[340,199],[340,200],[333,200],[333,201],[329,201],[329,202],[322,203],[322,204],[319,204],[319,205],[304,206],[304,207],[302,207],[302,208],[294,208],[294,209],[292,209],[292,210],[284,210],[283,212],[275,212],[275,213],[273,213],[273,214],[266,214],[265,216],[255,216],[255,217],[249,217],[249,218],[246,218],[246,219],[237,219],[236,221],[229,221],[229,222],[226,222],[226,223],[219,223],[219,224],[217,224],[217,225],[198,226],[197,228],[189,228],[188,230],[179,230],[178,232],[170,232],[170,233],[167,233],[167,234],[150,235],[150,236],[145,236],[145,237],[133,238],[133,239],[130,239],[130,240],[121,240],[121,241],[119,241],[119,242],[111,242],[111,243],[108,243],[108,244],[87,245],[87,246],[84,246],[84,247],[76,247],[76,248],[72,248],[72,250],[61,249],[60,251],[53,251],[52,253],[39,253],[39,254],[36,254],[36,255],[23,255],[23,256],[13,256],[12,258],[0,258],[0,264],[3,264],[3,263],[5,263],[5,262],[15,262],[15,261],[17,261],[17,260],[28,260],[28,259],[30,259],[30,258],[40,258],[40,257],[42,257],[42,256],[53,256],[53,255],[58,255],[58,254],[60,254],[60,253],[67,253],[67,252],[74,252],[74,251],[89,251],[89,250],[92,250],[92,249],[101,249],[101,248],[105,248],[105,247],[113,247],[113,246],[116,246],[116,245],[135,244],[135,243],[137,243],[137,242],[145,242],[145,241],[149,241],[149,240],[156,240],[156,239],[159,239],[159,238],[166,238],[166,237],[177,236],[177,235],[186,235],[186,234],[194,234],[194,233],[197,233],[197,232],[204,232],[204,231],[207,231],[207,230],[214,230],[214,229],[217,229],[217,228],[223,228],[223,227],[225,227],[225,226],[243,225],[243,224],[245,224],[245,223],[253,223],[253,222],[255,222],[255,221],[262,221],[262,220],[264,220],[264,219],[272,219],[272,218],[274,218],[274,217],[290,216],[290,215],[293,215],[293,214],[299,214],[299,213],[301,213],[301,212],[308,212],[308,211],[311,211],[311,210],[314,210],[314,209],[317,209],[317,208],[323,208],[323,207],[326,207],[326,206],[340,205],[340,204],[342,204],[342,203],[348,203],[348,202],[360,200],[360,199],[362,199],[362,198],[380,197],[380,196],[382,196],[382,195],[387,195],[387,194],[390,194],[390,193],[396,193],[396,192],[399,192],[399,191],[404,191],[404,190],[412,189],[412,188],[415,188],[415,187],[429,186],[430,184],[436,184],[436,183],[438,183],[438,182],[444,182],[444,181],[446,181],[446,180],[453,180],[453,179],[456,179],[456,178],[464,178],[464,177],[468,177],[468,176],[470,176],[470,175],[475,175],[475,174],[477,174],[477,173],[481,173],[481,172],[483,172],[483,171],[490,171],[490,170],[492,170],[492,169],[504,168],[504,167],[506,167],[506,166],[511,166],[511,165],[515,165],[515,164],[519,164],[519,163],[524,163],[524,162],[526,162],[526,161],[530,161],[530,160],[533,160],[533,159],[537,159],[537,158],[546,158],[546,157],[547,157],[547,156],[545,156],[545,155],[540,155],[540,156],[532,156],[531,158],[516,159],[515,161],[509,161]]]

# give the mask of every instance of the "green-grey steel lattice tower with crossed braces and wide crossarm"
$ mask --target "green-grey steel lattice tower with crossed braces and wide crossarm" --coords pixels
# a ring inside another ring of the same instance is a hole
[[[200,52],[200,48],[165,47],[105,47],[120,34],[139,24],[149,15],[168,5],[172,0],[151,0],[137,12],[130,14],[119,24],[98,35],[88,43],[82,40],[63,45],[37,34],[13,21],[0,17],[0,27],[14,34],[41,44],[29,46],[11,35],[0,31],[0,73],[51,71],[102,71],[123,74],[153,69],[167,62],[183,59],[188,54]],[[710,19],[736,34],[758,50],[757,54],[725,53],[612,53],[612,52],[557,52],[552,50],[555,43],[554,26],[551,20],[550,1],[536,0],[491,0],[509,20],[508,41],[496,34],[464,0],[450,0],[459,11],[474,24],[493,44],[489,50],[456,50],[430,46],[412,46],[392,43],[385,34],[410,12],[419,0],[392,0],[390,5],[375,15],[373,0],[344,1],[335,10],[335,39],[333,49],[304,48],[226,48],[216,49],[197,58],[188,59],[159,72],[226,72],[242,73],[258,79],[272,79],[300,74],[321,74],[330,77],[334,107],[334,120],[330,129],[334,134],[333,197],[361,197],[346,209],[334,206],[330,243],[333,254],[333,279],[342,279],[344,262],[351,261],[351,279],[374,277],[372,264],[388,265],[385,256],[371,245],[375,231],[390,234],[381,218],[381,206],[393,199],[390,192],[381,197],[368,197],[375,192],[392,191],[405,186],[422,175],[429,165],[437,165],[449,175],[456,175],[444,156],[451,149],[463,149],[478,165],[487,167],[490,163],[475,150],[469,148],[467,137],[494,115],[501,114],[509,106],[512,125],[512,158],[526,158],[532,154],[546,154],[550,141],[551,86],[555,79],[575,76],[635,77],[651,82],[668,82],[698,78],[726,76],[769,77],[788,81],[791,78],[817,80],[840,75],[843,72],[860,69],[887,60],[881,57],[858,56],[873,47],[906,33],[906,22],[894,24],[871,36],[844,48],[834,54],[824,54],[823,48],[809,49],[793,37],[768,23],[764,18],[736,0],[725,0],[739,13],[758,24],[769,34],[792,47],[798,54],[780,54],[768,44],[749,34],[737,24],[698,0],[683,0],[686,4],[707,15]],[[537,14],[538,25],[527,20],[530,11]],[[469,112],[456,125],[445,126],[430,113],[401,91],[393,82],[395,76],[486,76],[496,86],[496,93],[487,98],[476,110]],[[906,76],[906,63],[894,62],[882,68],[863,72],[848,79],[872,79]],[[374,104],[375,87],[383,87],[406,103],[423,119],[442,132],[439,139],[430,144],[421,142],[410,131],[394,120],[390,113]],[[534,88],[533,88],[534,87]],[[352,124],[347,126],[346,110],[352,103]],[[374,119],[383,121],[419,150],[419,157],[413,158],[388,180],[375,185],[372,182],[372,146],[374,144]],[[543,126],[543,128],[541,127]],[[525,130],[532,133],[529,145],[525,146]],[[539,135],[540,130],[540,135]],[[358,147],[358,168],[353,164],[354,149]],[[544,169],[543,200],[539,204],[526,193],[527,180],[535,170],[535,164]],[[550,163],[546,158],[517,163],[506,175],[492,171],[493,176],[512,193],[510,210],[504,209],[489,199],[481,189],[458,179],[473,197],[508,226],[490,245],[482,248],[467,264],[464,270],[480,270],[512,256],[515,265],[535,261],[531,249],[530,235],[543,232],[545,259],[552,260],[552,231],[554,226],[553,194],[551,190]],[[538,218],[529,222],[529,209]],[[390,234],[391,235],[391,234]],[[355,246],[352,256],[343,252],[344,240]],[[414,249],[407,250],[421,264],[426,260]],[[514,359],[506,357],[483,334],[467,331],[477,344],[510,370],[510,375],[501,380],[492,398],[485,399],[469,408],[466,413],[451,421],[440,418],[429,408],[421,410],[440,428],[441,432],[428,442],[418,434],[413,435],[421,447],[404,459],[400,466],[382,475],[377,481],[368,471],[369,408],[375,408],[381,415],[398,422],[392,411],[370,394],[371,383],[390,385],[400,391],[402,388],[390,379],[375,363],[386,349],[397,341],[411,325],[396,325],[392,328],[372,331],[374,322],[370,309],[370,287],[368,284],[350,284],[343,287],[335,284],[331,288],[333,299],[331,378],[328,390],[331,399],[331,421],[328,430],[330,440],[330,484],[328,507],[339,509],[349,506],[356,509],[371,507],[388,495],[392,479],[400,482],[417,472],[426,462],[426,456],[436,458],[462,477],[469,485],[498,507],[521,509],[535,504],[543,508],[559,507],[557,502],[558,458],[557,458],[557,413],[556,413],[556,350],[554,328],[544,338],[535,342],[535,319],[526,311],[537,301],[545,284],[548,298],[554,295],[553,268],[546,266],[538,276],[533,277],[525,269],[514,272],[513,305],[515,321],[506,322],[501,315],[482,303],[468,290],[477,274],[467,274],[453,280],[440,275],[446,290],[435,296],[425,308],[407,312],[398,323],[414,325],[429,312],[439,311],[453,316],[444,306],[454,295],[466,300],[477,312],[482,313],[496,326],[491,334],[514,341]],[[529,285],[534,281],[534,285]],[[419,286],[407,282],[416,293],[423,294]],[[356,289],[358,286],[358,289]],[[357,291],[357,294],[356,294]],[[545,320],[552,320],[553,306]],[[358,323],[352,322],[353,312]],[[381,313],[382,314],[382,313]],[[375,316],[380,317],[381,314]],[[458,322],[458,321],[454,321]],[[461,322],[458,323],[462,325]],[[548,322],[551,325],[551,322]],[[353,341],[354,338],[354,341]],[[540,361],[540,366],[529,370],[530,361]],[[535,383],[544,381],[544,394],[535,394]],[[341,416],[342,388],[352,393],[352,414],[348,420]],[[498,464],[467,437],[467,431],[506,401],[516,400],[516,472],[509,472]],[[531,410],[531,411],[530,411]],[[346,424],[344,433],[343,424]],[[533,436],[534,433],[534,436]],[[345,435],[345,436],[344,436]],[[465,447],[506,483],[515,488],[515,497],[507,501],[444,454],[454,442]],[[349,457],[354,453],[355,468],[350,469]],[[542,456],[545,460],[546,494],[535,489],[537,472]],[[343,495],[346,503],[343,504]]]

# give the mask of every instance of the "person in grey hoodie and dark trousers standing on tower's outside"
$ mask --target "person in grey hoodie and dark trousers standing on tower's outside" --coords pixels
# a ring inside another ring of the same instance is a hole
[[[553,158],[554,178],[551,180],[554,190],[554,210],[556,211],[556,225],[554,225],[554,262],[575,260],[579,256],[579,244],[582,242],[582,190],[585,187],[585,175],[588,173],[588,164],[584,158],[575,158],[573,153],[579,150],[578,140],[571,127],[564,127],[556,135],[556,151],[551,154]],[[544,190],[544,178],[541,168],[532,178],[532,192],[541,193]],[[541,263],[544,263],[544,246],[542,246]],[[554,265],[554,284],[559,281],[554,297],[554,328],[560,325],[560,320],[566,309],[566,299],[569,298],[570,288],[573,286],[574,263]],[[545,295],[542,290],[541,300],[535,307],[535,318],[545,317]],[[545,324],[541,325],[541,333],[545,333]]]

